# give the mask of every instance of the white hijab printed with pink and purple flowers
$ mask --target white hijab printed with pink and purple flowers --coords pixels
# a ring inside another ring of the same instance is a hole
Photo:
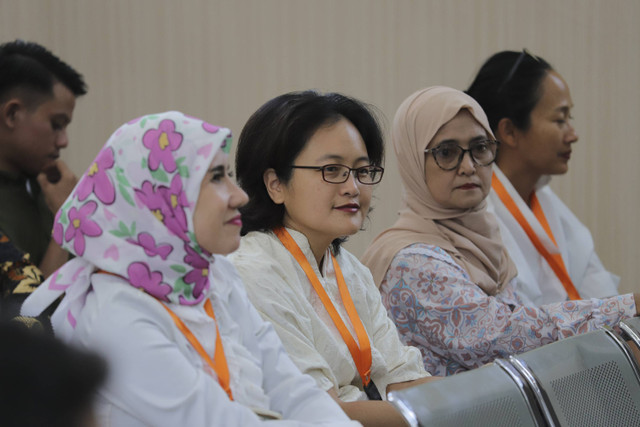
[[[176,111],[116,130],[55,217],[54,240],[76,258],[40,285],[22,314],[37,315],[66,293],[54,317],[75,327],[98,269],[161,301],[202,301],[213,256],[196,242],[193,211],[213,157],[230,145],[228,129]]]

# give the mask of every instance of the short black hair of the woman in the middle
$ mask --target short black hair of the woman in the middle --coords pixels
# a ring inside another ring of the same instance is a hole
[[[273,169],[280,181],[288,182],[294,172],[291,165],[315,131],[343,119],[360,134],[369,165],[382,166],[380,127],[368,109],[354,99],[337,93],[293,92],[268,101],[252,115],[242,129],[236,152],[238,181],[251,195],[243,208],[243,235],[284,225],[285,206],[271,199],[262,174],[256,171]],[[382,178],[382,170],[378,178]],[[337,249],[339,240],[335,243]]]

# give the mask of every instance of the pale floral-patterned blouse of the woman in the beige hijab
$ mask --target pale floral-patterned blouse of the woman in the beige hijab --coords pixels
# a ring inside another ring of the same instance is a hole
[[[414,244],[396,254],[380,287],[402,341],[432,375],[451,375],[635,314],[632,294],[525,305],[507,285],[489,296],[442,249]]]

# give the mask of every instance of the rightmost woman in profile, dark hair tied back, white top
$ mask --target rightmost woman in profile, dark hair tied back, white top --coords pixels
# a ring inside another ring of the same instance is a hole
[[[578,140],[567,82],[526,50],[504,51],[484,63],[467,93],[501,142],[488,200],[518,267],[515,288],[535,304],[616,295],[619,278],[548,185],[567,172]]]

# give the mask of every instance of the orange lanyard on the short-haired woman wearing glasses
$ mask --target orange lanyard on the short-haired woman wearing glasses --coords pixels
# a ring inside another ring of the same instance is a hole
[[[318,280],[318,276],[316,276],[311,264],[307,260],[307,257],[304,256],[302,250],[298,246],[291,234],[287,230],[282,227],[276,228],[273,230],[275,235],[280,239],[285,248],[293,255],[293,257],[298,261],[298,264],[304,270],[309,282],[311,282],[311,286],[315,289],[316,293],[320,297],[324,308],[331,316],[331,320],[333,320],[334,325],[338,328],[338,332],[342,336],[345,344],[349,347],[349,352],[351,353],[351,357],[358,368],[358,373],[360,374],[360,378],[362,379],[362,383],[366,386],[371,382],[371,344],[369,342],[369,337],[367,336],[367,332],[362,325],[362,321],[360,320],[360,316],[358,316],[358,312],[356,311],[356,307],[353,304],[353,300],[351,299],[351,295],[349,295],[349,290],[347,289],[347,285],[344,282],[344,277],[342,276],[342,271],[340,270],[340,266],[336,261],[336,258],[331,254],[331,261],[333,262],[333,268],[336,272],[336,280],[338,281],[338,289],[340,290],[340,297],[342,298],[342,303],[344,304],[345,309],[347,310],[347,314],[349,315],[349,319],[351,320],[351,324],[356,331],[356,336],[358,338],[358,343],[353,339],[353,336],[347,329],[347,326],[342,321],[342,318],[338,314],[338,311],[334,307],[329,295],[322,287],[320,280]]]

